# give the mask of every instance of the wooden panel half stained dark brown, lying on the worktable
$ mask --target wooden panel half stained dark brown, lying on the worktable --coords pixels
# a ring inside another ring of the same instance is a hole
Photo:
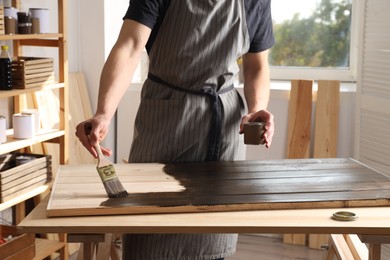
[[[49,217],[390,205],[390,179],[350,159],[116,164],[109,199],[94,165],[61,166]]]

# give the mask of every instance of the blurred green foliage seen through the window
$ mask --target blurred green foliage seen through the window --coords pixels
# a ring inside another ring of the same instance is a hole
[[[308,18],[274,24],[272,66],[348,68],[351,0],[321,0]]]

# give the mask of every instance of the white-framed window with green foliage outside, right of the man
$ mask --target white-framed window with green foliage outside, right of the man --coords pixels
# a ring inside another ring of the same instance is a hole
[[[356,81],[358,2],[272,0],[271,78]]]

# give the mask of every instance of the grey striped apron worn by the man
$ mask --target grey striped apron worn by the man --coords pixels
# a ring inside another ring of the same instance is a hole
[[[172,0],[149,53],[129,162],[244,159],[232,87],[248,50],[243,0]],[[123,259],[216,259],[236,234],[126,234]]]

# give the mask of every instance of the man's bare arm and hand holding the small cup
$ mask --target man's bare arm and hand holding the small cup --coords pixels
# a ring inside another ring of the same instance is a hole
[[[271,146],[274,134],[273,115],[268,112],[270,96],[270,71],[268,50],[259,53],[247,53],[243,56],[244,95],[248,114],[243,117],[241,132],[245,122],[265,122],[265,145]]]

